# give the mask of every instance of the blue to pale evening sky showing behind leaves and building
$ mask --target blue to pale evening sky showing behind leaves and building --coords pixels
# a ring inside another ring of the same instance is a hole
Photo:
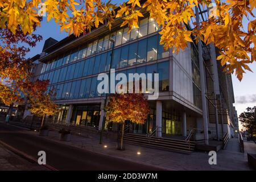
[[[123,0],[114,0],[113,3],[120,3]],[[254,15],[256,11],[253,11]],[[247,30],[247,21],[244,21],[245,30]],[[43,44],[46,39],[52,37],[56,40],[64,39],[68,34],[63,31],[60,32],[59,26],[55,24],[53,20],[47,22],[46,18],[43,18],[41,27],[38,27],[35,31],[35,34],[40,34],[43,36],[43,40],[37,43],[36,47],[31,48],[31,51],[27,54],[28,57],[33,57],[38,53],[42,52]],[[256,62],[250,64],[250,68],[253,72],[246,71],[243,76],[242,81],[240,82],[236,76],[232,75],[233,89],[235,104],[238,116],[245,111],[247,107],[256,106]],[[240,125],[241,129],[241,125]]]

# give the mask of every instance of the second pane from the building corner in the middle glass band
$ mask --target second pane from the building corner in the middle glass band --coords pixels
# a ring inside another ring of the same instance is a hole
[[[147,61],[156,60],[158,53],[158,36],[151,36],[147,40]]]

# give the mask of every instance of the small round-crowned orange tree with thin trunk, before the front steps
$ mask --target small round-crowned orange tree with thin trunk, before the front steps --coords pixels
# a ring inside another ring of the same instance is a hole
[[[123,150],[123,133],[125,121],[137,124],[144,124],[150,113],[148,102],[144,99],[143,94],[126,93],[113,94],[109,98],[109,104],[106,106],[109,121],[121,123],[120,148]]]

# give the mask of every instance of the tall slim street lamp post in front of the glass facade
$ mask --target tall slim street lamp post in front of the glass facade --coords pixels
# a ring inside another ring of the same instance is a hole
[[[110,73],[111,73],[111,67],[112,67],[112,61],[113,61],[113,52],[114,52],[114,43],[115,43],[115,40],[113,38],[109,38],[109,41],[112,42],[112,51],[111,51],[111,59],[110,59],[110,65],[109,65],[109,84],[108,84],[108,93],[109,93],[109,85],[110,85]],[[100,144],[102,144],[102,140],[103,140],[103,133],[104,133],[104,129],[105,129],[105,121],[106,121],[106,110],[105,110],[105,107],[106,107],[106,100],[108,99],[108,93],[106,93],[106,97],[105,97],[105,100],[104,100],[104,119],[103,119],[103,122],[102,122],[102,126],[101,126],[101,135],[100,135]]]

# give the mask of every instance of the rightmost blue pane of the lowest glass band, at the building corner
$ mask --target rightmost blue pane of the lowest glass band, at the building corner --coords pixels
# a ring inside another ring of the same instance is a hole
[[[159,91],[169,91],[169,61],[158,64],[159,73]]]

